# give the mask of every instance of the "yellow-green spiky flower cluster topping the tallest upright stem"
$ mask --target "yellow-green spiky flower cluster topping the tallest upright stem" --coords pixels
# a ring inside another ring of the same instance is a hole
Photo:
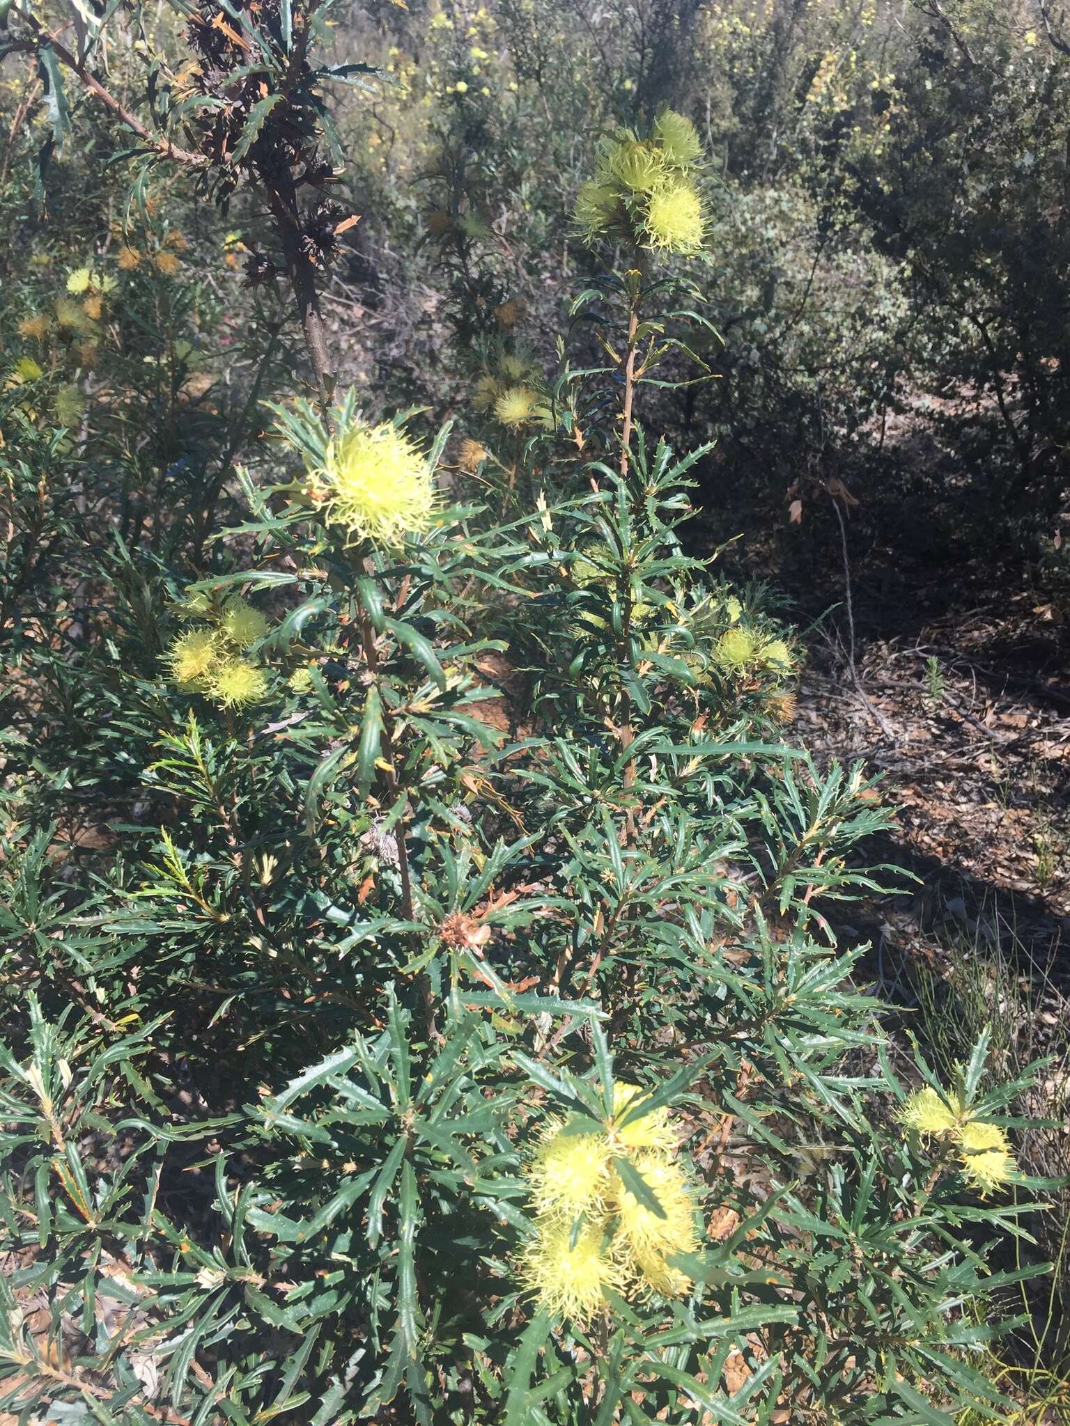
[[[698,252],[706,220],[692,168],[702,143],[689,118],[666,108],[649,137],[621,130],[601,150],[598,173],[576,195],[588,242],[611,238],[661,252]]]

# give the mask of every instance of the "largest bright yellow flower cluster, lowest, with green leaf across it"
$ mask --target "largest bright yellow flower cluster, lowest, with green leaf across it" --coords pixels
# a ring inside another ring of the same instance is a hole
[[[673,1259],[698,1249],[695,1196],[668,1111],[632,1108],[642,1094],[616,1084],[613,1114],[598,1128],[555,1121],[528,1168],[536,1231],[524,1282],[541,1308],[576,1323],[603,1310],[608,1292],[636,1301],[691,1288]]]

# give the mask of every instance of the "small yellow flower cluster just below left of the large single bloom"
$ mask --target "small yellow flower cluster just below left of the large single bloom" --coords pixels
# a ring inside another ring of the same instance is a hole
[[[194,593],[178,613],[203,619],[171,642],[165,653],[171,682],[185,693],[204,693],[220,707],[237,709],[258,703],[267,693],[263,667],[248,650],[268,632],[264,615],[238,596],[217,603]]]

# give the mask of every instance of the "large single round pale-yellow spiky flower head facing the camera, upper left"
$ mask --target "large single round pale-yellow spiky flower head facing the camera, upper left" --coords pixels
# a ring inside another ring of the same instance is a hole
[[[354,422],[331,441],[322,469],[312,475],[324,488],[327,519],[341,525],[350,542],[397,548],[431,523],[435,489],[427,458],[389,422]]]

